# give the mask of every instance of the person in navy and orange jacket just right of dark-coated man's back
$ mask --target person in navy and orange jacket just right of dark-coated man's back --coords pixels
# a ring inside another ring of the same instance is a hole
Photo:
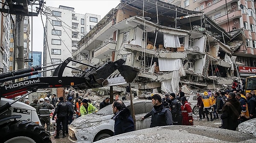
[[[247,121],[247,120],[250,119],[248,105],[247,105],[246,99],[241,97],[240,93],[236,93],[236,99],[241,104],[241,114],[240,114],[240,117],[239,117],[239,123],[242,123],[242,122]]]

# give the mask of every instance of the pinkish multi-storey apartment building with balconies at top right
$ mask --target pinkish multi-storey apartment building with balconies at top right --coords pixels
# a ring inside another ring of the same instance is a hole
[[[203,11],[231,36],[234,31],[242,30],[238,40],[242,41],[233,51],[239,68],[256,67],[256,2],[253,0],[165,0],[183,8]],[[240,72],[240,70],[239,70]],[[256,73],[239,73],[242,77]]]

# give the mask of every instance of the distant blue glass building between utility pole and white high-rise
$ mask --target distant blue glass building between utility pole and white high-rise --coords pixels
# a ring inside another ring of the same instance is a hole
[[[38,51],[29,52],[29,59],[33,60],[33,62],[28,62],[29,67],[41,66],[42,52],[38,52]],[[42,73],[38,73],[38,75],[29,76],[28,79],[35,78],[35,77],[41,77],[41,76],[42,76]]]

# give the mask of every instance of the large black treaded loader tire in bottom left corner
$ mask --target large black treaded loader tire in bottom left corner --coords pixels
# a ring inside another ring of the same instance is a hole
[[[0,129],[1,143],[19,142],[24,139],[28,143],[52,143],[45,129],[34,122],[24,120],[11,121],[1,125]],[[10,141],[10,139],[13,141]]]

